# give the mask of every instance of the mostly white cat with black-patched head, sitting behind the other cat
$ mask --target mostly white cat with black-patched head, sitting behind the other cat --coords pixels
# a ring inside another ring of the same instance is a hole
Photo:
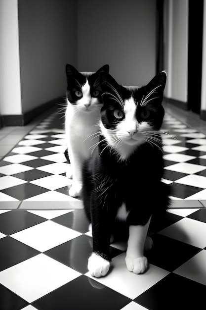
[[[65,156],[71,164],[66,176],[73,178],[69,195],[81,196],[82,163],[91,156],[92,146],[97,140],[98,122],[102,106],[99,73],[109,72],[109,65],[97,72],[79,72],[71,64],[66,65],[67,109],[65,113],[65,133],[68,146]],[[69,157],[69,158],[68,158]]]

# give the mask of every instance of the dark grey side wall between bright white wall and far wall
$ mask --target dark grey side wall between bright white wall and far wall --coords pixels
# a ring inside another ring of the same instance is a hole
[[[76,0],[19,0],[22,112],[65,95],[77,64]]]

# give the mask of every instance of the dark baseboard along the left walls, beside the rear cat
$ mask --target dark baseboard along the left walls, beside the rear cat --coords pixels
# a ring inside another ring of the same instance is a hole
[[[63,97],[57,98],[55,100],[49,101],[47,103],[38,106],[31,111],[20,115],[1,115],[1,122],[3,126],[24,126],[32,121],[35,117],[39,116],[46,110],[55,107],[57,103],[63,103]]]

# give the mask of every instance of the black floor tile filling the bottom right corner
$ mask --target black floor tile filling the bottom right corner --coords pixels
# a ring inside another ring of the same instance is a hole
[[[205,285],[170,273],[135,301],[150,310],[202,310],[205,293]]]

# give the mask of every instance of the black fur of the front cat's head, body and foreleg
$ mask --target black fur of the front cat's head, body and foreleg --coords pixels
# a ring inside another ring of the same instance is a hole
[[[163,144],[158,133],[164,117],[162,100],[166,74],[159,73],[148,85],[140,88],[121,86],[111,75],[103,72],[99,79],[103,92],[101,122],[105,128],[113,129],[118,123],[113,116],[114,109],[120,109],[120,104],[113,100],[115,89],[123,102],[133,96],[138,122],[152,123],[156,132],[155,143],[141,143],[125,160],[120,160],[115,150],[107,146],[101,133],[91,159],[85,162],[82,198],[85,213],[92,223],[93,253],[111,260],[110,236],[115,232],[116,215],[123,202],[129,211],[124,223],[127,228],[130,225],[145,225],[153,213],[165,211],[169,205],[169,187],[161,182],[164,171]],[[149,97],[151,100],[145,106],[140,106],[143,96],[156,87]],[[150,110],[147,120],[140,117],[144,109]]]

